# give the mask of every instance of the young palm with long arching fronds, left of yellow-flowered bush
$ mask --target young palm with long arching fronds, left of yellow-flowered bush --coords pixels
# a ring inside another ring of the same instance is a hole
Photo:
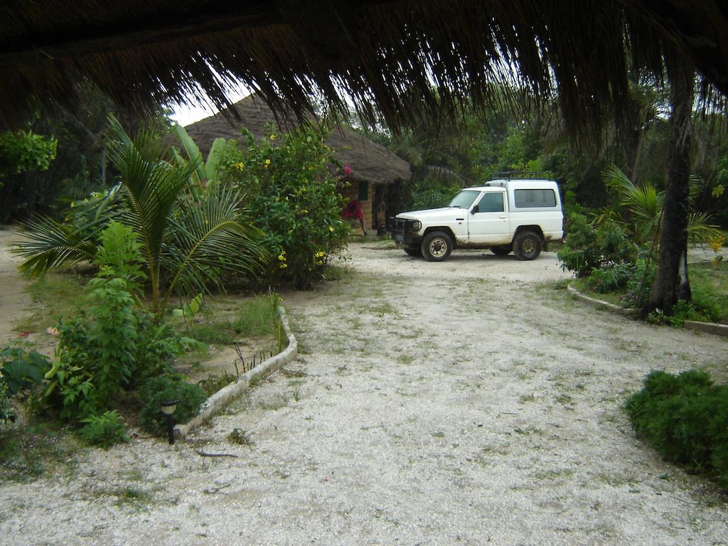
[[[109,128],[109,157],[121,173],[116,220],[139,236],[152,312],[163,312],[175,291],[194,296],[210,286],[222,288],[223,272],[245,275],[264,266],[269,256],[263,233],[240,220],[235,191],[215,187],[191,197],[185,190],[194,162],[171,165],[160,159],[165,149],[159,138],[150,132],[130,138],[114,116]],[[81,230],[36,219],[28,224],[27,240],[17,246],[17,253],[28,258],[20,269],[33,276],[92,260],[105,225],[103,215]]]

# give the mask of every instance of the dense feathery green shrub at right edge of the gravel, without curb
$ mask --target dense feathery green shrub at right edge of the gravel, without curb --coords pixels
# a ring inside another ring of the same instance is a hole
[[[662,457],[728,487],[728,385],[713,384],[703,371],[652,371],[625,410],[636,433]]]

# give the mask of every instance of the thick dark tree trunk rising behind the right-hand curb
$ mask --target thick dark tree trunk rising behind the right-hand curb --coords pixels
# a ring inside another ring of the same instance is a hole
[[[687,276],[687,223],[689,213],[690,144],[692,141],[692,105],[695,98],[695,72],[675,60],[670,75],[670,141],[668,143],[668,187],[662,207],[660,257],[657,276],[643,316],[654,309],[672,314],[678,300],[689,300]]]

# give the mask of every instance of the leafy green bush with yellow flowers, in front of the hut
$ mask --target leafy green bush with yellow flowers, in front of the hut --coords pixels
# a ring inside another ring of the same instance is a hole
[[[260,142],[244,134],[246,149],[229,143],[218,168],[223,185],[245,196],[248,218],[266,233],[266,245],[277,256],[260,282],[306,288],[322,277],[349,234],[348,223],[341,220],[344,204],[336,178],[329,170],[333,152],[312,129],[272,132]],[[277,138],[280,145],[274,147],[271,141]]]

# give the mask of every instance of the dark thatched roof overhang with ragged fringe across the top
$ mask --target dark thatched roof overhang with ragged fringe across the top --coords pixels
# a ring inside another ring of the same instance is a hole
[[[36,100],[72,105],[90,80],[132,109],[190,94],[231,106],[242,81],[301,119],[312,97],[344,111],[343,91],[396,126],[487,105],[515,67],[593,128],[625,107],[631,63],[662,71],[668,50],[728,94],[724,0],[4,0],[0,124]]]

